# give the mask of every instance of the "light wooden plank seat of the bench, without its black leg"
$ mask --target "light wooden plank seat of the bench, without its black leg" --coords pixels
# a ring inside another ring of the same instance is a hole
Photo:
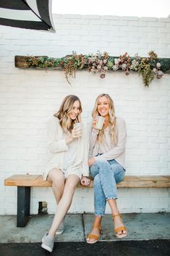
[[[41,186],[51,187],[51,182],[43,181],[42,175],[20,174],[6,178],[5,186]],[[81,184],[78,187],[83,187]],[[93,187],[93,181],[90,186]],[[118,188],[169,188],[170,176],[125,176],[117,184]]]

